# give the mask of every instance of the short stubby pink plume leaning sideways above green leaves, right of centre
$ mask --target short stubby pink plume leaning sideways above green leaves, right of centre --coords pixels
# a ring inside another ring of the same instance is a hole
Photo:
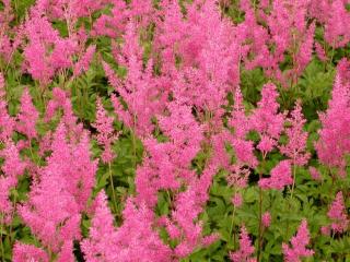
[[[271,170],[271,177],[259,180],[259,187],[262,189],[282,190],[285,186],[292,184],[292,168],[290,160],[281,160]]]

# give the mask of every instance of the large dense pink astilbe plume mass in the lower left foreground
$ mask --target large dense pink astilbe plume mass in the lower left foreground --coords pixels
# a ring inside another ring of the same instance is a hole
[[[49,253],[73,261],[72,241],[81,238],[81,212],[95,182],[96,162],[91,160],[88,133],[79,142],[69,142],[67,134],[60,123],[47,166],[39,170],[39,180],[32,184],[28,201],[19,213]]]

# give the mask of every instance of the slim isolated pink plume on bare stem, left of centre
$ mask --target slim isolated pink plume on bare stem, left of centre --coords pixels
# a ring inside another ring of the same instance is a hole
[[[107,111],[104,109],[100,97],[97,97],[96,105],[96,120],[92,127],[97,130],[97,143],[104,146],[104,151],[101,156],[102,160],[104,163],[110,163],[115,157],[115,153],[112,150],[112,144],[118,139],[118,135],[114,132],[114,118],[107,115]]]

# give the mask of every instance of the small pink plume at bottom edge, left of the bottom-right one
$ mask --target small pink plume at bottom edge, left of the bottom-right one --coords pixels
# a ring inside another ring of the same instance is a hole
[[[234,252],[230,252],[230,259],[232,262],[256,262],[256,259],[253,258],[254,246],[248,236],[248,231],[245,226],[241,227],[240,234],[240,249]]]

